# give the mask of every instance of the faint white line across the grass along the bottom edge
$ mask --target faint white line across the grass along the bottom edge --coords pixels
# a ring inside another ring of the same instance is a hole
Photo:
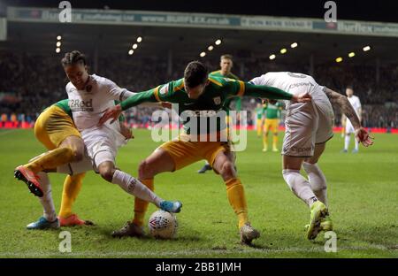
[[[385,246],[375,244],[372,246],[366,247],[338,247],[337,252],[341,252],[341,250],[366,250],[366,249],[381,249],[388,250]],[[239,254],[246,255],[248,253],[321,253],[325,252],[323,247],[319,247],[317,249],[300,249],[300,248],[287,248],[287,249],[202,249],[202,250],[182,250],[182,251],[147,251],[147,252],[139,252],[139,251],[116,251],[116,252],[95,252],[95,251],[81,251],[81,252],[71,252],[71,253],[60,253],[60,252],[1,252],[1,257],[129,257],[129,256],[139,256],[139,257],[159,257],[159,256],[194,256],[194,255],[203,255],[203,256],[211,256],[211,255],[230,255],[230,254]],[[333,256],[333,253],[331,257]]]

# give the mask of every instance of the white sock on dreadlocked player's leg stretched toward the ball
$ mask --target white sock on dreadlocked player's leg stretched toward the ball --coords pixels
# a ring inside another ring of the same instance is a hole
[[[120,188],[123,188],[128,194],[149,203],[154,203],[157,207],[160,207],[160,203],[163,201],[162,198],[143,185],[140,180],[137,180],[128,173],[116,170],[115,173],[113,173],[112,183],[118,184]]]

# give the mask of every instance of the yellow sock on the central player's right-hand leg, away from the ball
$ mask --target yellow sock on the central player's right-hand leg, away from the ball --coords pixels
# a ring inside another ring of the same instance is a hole
[[[238,216],[239,228],[249,221],[248,205],[246,203],[245,191],[241,180],[233,178],[226,180],[226,196],[233,207],[233,211]]]

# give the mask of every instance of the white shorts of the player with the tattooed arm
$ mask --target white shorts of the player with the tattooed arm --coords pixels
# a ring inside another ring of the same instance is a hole
[[[327,98],[313,97],[310,103],[290,104],[285,120],[282,155],[312,157],[315,144],[327,142],[333,137],[333,123],[333,108]]]

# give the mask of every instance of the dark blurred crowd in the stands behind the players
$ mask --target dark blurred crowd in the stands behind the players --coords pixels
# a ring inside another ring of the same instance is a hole
[[[65,73],[60,65],[60,55],[37,56],[27,53],[16,54],[0,51],[0,127],[5,121],[34,122],[38,114],[51,103],[66,97]],[[88,56],[88,60],[91,57]],[[117,62],[116,62],[116,61]],[[96,74],[115,81],[120,87],[131,91],[153,88],[168,80],[182,76],[189,60],[172,62],[172,70],[167,72],[167,60],[157,57],[131,58],[125,56],[105,56],[98,58]],[[210,70],[218,70],[218,59],[206,60]],[[93,65],[89,71],[93,72]],[[356,96],[363,104],[363,124],[372,127],[398,127],[398,65],[381,65],[379,73],[371,65],[315,65],[313,76],[319,84],[344,93],[353,86]],[[269,60],[235,60],[233,73],[242,80],[269,71],[291,71],[309,73],[308,65],[288,65],[271,63]],[[242,109],[248,110],[249,124],[256,107],[253,99],[244,99]],[[150,123],[151,108],[136,107],[126,114],[130,124]],[[336,111],[336,126],[340,125],[340,111]]]

